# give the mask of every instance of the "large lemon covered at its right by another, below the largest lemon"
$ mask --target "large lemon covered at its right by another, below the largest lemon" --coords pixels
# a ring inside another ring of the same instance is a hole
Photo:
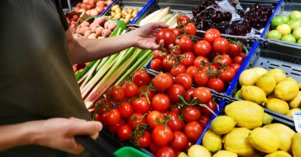
[[[247,128],[234,128],[222,140],[225,150],[236,153],[238,156],[254,154],[256,149],[250,144],[248,135],[251,130]]]

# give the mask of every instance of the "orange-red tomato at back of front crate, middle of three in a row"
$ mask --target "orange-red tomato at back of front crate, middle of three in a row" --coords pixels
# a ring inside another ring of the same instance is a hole
[[[155,76],[154,79],[154,87],[163,92],[164,90],[167,90],[173,82],[173,78],[170,77],[168,74],[160,73],[157,76]]]

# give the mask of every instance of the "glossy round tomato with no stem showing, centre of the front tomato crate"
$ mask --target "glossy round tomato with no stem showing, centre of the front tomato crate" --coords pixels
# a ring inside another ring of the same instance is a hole
[[[162,112],[169,108],[170,99],[166,94],[158,93],[153,97],[151,105],[154,108],[154,110]]]

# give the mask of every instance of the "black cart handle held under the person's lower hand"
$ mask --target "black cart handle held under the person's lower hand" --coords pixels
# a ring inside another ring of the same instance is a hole
[[[76,135],[75,140],[94,157],[116,157],[88,135]]]

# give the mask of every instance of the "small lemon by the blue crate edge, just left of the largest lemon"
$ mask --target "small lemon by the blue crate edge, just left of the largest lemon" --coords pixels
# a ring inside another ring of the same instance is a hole
[[[212,130],[217,135],[227,134],[234,129],[237,121],[229,116],[218,116],[214,118],[210,125],[210,130]]]

